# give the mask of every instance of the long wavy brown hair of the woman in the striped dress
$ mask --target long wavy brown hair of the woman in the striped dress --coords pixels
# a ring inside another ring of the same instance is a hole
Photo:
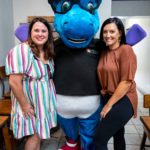
[[[44,44],[44,58],[46,60],[51,59],[54,56],[54,45],[53,45],[53,36],[52,36],[52,29],[50,24],[47,22],[47,20],[45,20],[42,17],[35,17],[32,22],[29,25],[29,31],[28,31],[28,44],[32,49],[32,52],[34,53],[35,56],[39,57],[40,51],[37,47],[37,45],[33,42],[32,38],[31,38],[31,30],[33,28],[33,25],[36,22],[41,22],[43,23],[47,29],[48,29],[48,40],[47,42]]]

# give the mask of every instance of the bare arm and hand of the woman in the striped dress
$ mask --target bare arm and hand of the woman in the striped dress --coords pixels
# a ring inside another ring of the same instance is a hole
[[[34,110],[31,104],[26,100],[23,92],[22,80],[22,74],[11,74],[9,76],[11,90],[21,106],[23,115],[27,118],[34,115]]]

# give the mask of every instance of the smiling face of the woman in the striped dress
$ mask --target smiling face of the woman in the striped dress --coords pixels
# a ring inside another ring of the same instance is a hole
[[[48,29],[42,22],[36,22],[31,30],[31,38],[38,47],[43,47],[48,40]]]

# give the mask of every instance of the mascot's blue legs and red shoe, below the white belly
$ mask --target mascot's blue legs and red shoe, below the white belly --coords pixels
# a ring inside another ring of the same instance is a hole
[[[93,135],[100,122],[101,107],[102,105],[88,118],[66,119],[58,115],[60,126],[67,135],[66,145],[59,150],[94,150]],[[80,148],[79,135],[82,148]]]

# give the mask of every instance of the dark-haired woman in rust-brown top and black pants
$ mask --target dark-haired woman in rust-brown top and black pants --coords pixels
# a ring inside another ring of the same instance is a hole
[[[103,23],[99,46],[101,55],[97,72],[104,107],[94,137],[95,149],[107,150],[107,143],[113,137],[114,150],[125,150],[124,126],[137,115],[134,81],[137,62],[132,47],[126,44],[120,19],[109,18]]]

